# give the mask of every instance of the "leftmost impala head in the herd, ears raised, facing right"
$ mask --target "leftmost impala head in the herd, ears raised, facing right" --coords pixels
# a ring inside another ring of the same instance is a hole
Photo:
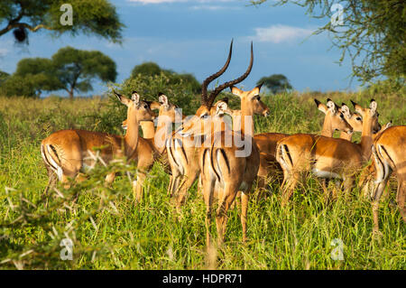
[[[135,116],[137,121],[152,121],[155,114],[152,112],[151,107],[147,101],[140,100],[140,95],[133,91],[131,99],[126,98],[113,91],[118,100],[127,107],[127,119],[130,116]]]

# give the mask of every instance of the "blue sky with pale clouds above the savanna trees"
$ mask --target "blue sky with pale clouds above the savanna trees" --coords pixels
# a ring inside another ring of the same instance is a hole
[[[224,64],[233,38],[233,58],[220,82],[245,71],[253,41],[254,67],[241,83],[243,88],[252,88],[258,79],[274,73],[287,76],[300,91],[357,88],[358,82],[350,82],[349,61],[337,64],[340,51],[330,50],[328,35],[308,37],[329,19],[310,18],[305,8],[298,5],[273,7],[273,2],[255,7],[248,0],[116,0],[112,3],[126,25],[122,45],[96,36],[64,35],[54,39],[40,32],[31,33],[30,45],[21,47],[14,44],[12,33],[8,33],[0,39],[0,70],[12,73],[18,60],[49,58],[70,45],[102,51],[115,60],[116,82],[128,78],[134,66],[143,61],[192,73],[202,81]],[[106,90],[99,81],[93,86],[93,94]],[[58,94],[65,95],[63,91]]]

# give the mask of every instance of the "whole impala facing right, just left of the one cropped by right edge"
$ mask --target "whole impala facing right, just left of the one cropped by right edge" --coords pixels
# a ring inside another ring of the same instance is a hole
[[[371,156],[373,132],[381,129],[374,99],[369,108],[352,103],[355,111],[363,116],[360,144],[305,134],[291,135],[278,142],[276,159],[281,164],[284,176],[281,188],[283,205],[291,198],[300,176],[305,172],[313,172],[323,179],[340,179],[345,190],[352,189],[355,173]]]

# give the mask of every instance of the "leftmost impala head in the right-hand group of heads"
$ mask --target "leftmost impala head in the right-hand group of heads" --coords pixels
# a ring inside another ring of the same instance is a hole
[[[314,99],[318,110],[326,114],[324,118],[324,125],[328,125],[331,131],[344,131],[348,134],[353,133],[353,127],[346,122],[346,117],[341,113],[336,105],[331,99],[328,98],[327,105],[324,105],[318,99]]]

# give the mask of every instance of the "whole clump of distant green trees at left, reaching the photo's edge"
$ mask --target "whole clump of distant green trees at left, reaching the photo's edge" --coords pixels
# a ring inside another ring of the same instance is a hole
[[[6,73],[5,73],[6,74]],[[42,91],[64,89],[73,98],[74,91],[92,90],[91,80],[115,81],[115,62],[100,51],[61,48],[51,59],[26,58],[17,63],[11,76],[2,80],[5,96],[40,97]]]

